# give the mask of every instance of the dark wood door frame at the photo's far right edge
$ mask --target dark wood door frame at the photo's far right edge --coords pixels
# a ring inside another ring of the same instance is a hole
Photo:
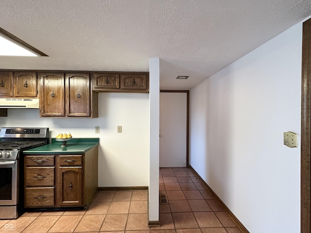
[[[302,24],[301,233],[311,232],[311,19]]]

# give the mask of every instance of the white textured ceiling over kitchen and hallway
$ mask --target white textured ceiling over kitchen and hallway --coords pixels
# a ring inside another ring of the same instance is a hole
[[[310,15],[310,0],[0,0],[0,28],[49,55],[0,68],[148,71],[158,57],[160,88],[189,89]]]

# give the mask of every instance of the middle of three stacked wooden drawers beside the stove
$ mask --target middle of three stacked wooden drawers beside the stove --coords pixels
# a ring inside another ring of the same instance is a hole
[[[53,186],[55,167],[26,167],[28,186]]]

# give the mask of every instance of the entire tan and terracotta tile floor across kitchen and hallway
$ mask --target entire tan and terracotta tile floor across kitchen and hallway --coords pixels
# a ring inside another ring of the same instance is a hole
[[[88,210],[27,212],[0,233],[241,233],[190,168],[160,168],[161,227],[148,228],[147,190],[100,191]]]

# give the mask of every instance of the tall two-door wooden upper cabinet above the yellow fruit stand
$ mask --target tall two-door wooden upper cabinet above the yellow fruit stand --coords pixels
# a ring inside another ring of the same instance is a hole
[[[89,73],[41,73],[41,117],[98,117]]]

